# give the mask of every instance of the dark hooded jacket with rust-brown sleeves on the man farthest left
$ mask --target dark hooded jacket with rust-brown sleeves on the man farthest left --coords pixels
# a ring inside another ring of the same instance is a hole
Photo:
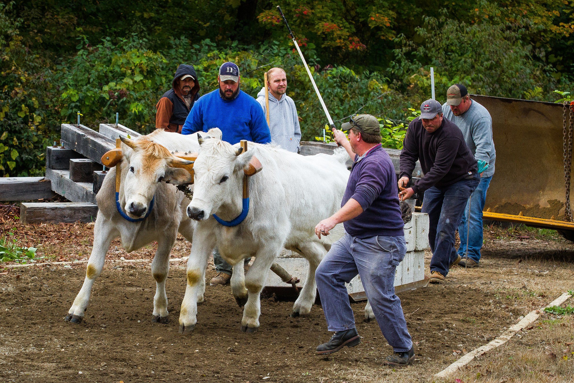
[[[189,109],[185,105],[183,94],[181,94],[177,80],[183,75],[191,75],[195,82],[191,92],[191,105]],[[177,67],[176,74],[173,76],[172,88],[161,96],[156,105],[156,129],[165,129],[166,131],[176,131],[181,133],[181,127],[185,122],[185,118],[193,107],[193,104],[199,99],[199,81],[195,68],[192,65],[180,64]]]

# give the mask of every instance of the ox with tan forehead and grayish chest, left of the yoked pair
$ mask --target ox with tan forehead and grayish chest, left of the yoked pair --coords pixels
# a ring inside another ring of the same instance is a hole
[[[211,129],[208,134],[221,138],[219,129]],[[189,199],[183,192],[177,192],[174,185],[166,184],[189,183],[191,175],[179,167],[192,163],[174,157],[170,151],[197,152],[197,134],[182,136],[156,130],[135,141],[122,138],[122,142],[123,160],[110,169],[96,196],[99,211],[94,226],[94,245],[82,289],[65,317],[69,322],[82,322],[92,285],[102,272],[110,242],[117,237],[121,237],[122,246],[128,253],[157,241],[157,251],[152,261],[152,276],[156,280],[153,320],[168,322],[165,280],[169,270],[169,253],[178,231],[188,241],[193,235],[192,221],[185,215]],[[118,167],[121,167],[119,202],[127,216],[132,219],[145,217],[155,196],[154,206],[146,219],[130,222],[119,214],[115,203],[115,172]],[[205,284],[200,284],[199,288],[204,289]]]

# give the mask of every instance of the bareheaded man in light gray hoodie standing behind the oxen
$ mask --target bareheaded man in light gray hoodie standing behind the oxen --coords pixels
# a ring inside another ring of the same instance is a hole
[[[271,68],[267,72],[269,87],[269,130],[271,142],[289,152],[299,152],[301,128],[293,99],[285,94],[287,91],[287,76],[281,68]],[[265,88],[257,94],[257,102],[267,115],[265,107]]]

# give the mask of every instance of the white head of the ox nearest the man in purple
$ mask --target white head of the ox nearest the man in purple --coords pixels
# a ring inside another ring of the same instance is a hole
[[[201,221],[218,214],[224,203],[241,208],[243,176],[256,150],[237,148],[216,139],[200,141],[193,164],[193,199],[187,207],[189,218]],[[255,158],[253,158],[255,160]]]

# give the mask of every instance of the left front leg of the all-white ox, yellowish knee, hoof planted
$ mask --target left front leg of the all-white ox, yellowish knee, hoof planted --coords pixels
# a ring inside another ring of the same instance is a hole
[[[210,243],[211,242],[211,243]],[[197,231],[193,235],[191,254],[187,260],[187,285],[181,302],[180,334],[193,331],[197,323],[197,303],[203,302],[205,292],[205,268],[207,260],[214,249],[213,241],[199,237]]]

